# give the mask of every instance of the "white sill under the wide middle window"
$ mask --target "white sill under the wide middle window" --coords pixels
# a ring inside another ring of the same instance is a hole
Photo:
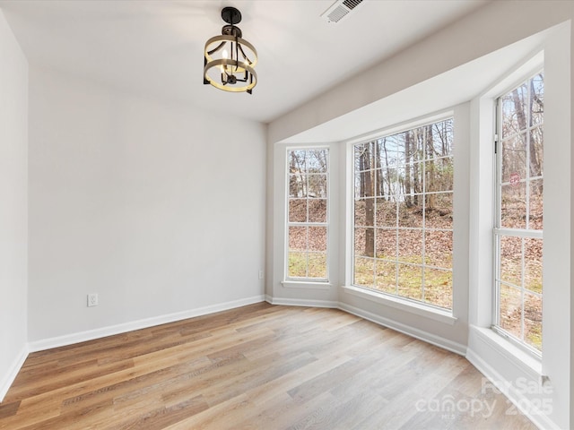
[[[345,293],[352,296],[365,298],[380,303],[381,305],[395,307],[396,309],[417,314],[438,321],[439,323],[447,323],[449,325],[457,323],[457,317],[453,316],[453,314],[447,310],[435,309],[431,306],[422,305],[411,300],[404,300],[400,297],[387,296],[377,291],[370,291],[367,288],[344,286],[343,289]]]

